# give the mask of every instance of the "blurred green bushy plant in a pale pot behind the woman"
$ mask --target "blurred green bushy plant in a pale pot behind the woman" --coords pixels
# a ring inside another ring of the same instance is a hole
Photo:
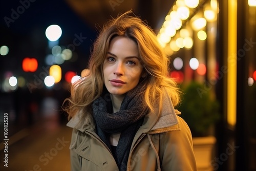
[[[210,170],[212,149],[216,143],[210,127],[220,119],[219,102],[212,99],[210,92],[199,82],[191,82],[181,89],[184,94],[178,110],[191,130],[198,170]]]

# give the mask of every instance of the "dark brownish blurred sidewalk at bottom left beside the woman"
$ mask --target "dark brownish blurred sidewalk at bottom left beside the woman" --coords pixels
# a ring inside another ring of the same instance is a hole
[[[8,153],[1,142],[0,170],[51,171],[70,170],[70,138],[72,129],[65,124],[36,123],[9,138]],[[4,155],[8,154],[8,167]]]

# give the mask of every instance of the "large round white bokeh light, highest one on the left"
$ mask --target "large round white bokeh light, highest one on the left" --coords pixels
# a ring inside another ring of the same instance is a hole
[[[57,41],[62,34],[62,30],[58,25],[51,25],[46,29],[46,37],[49,41]]]

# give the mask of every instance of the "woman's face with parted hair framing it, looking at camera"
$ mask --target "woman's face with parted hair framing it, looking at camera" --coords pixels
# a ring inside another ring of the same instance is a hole
[[[106,89],[113,95],[124,95],[137,86],[142,71],[137,44],[127,37],[113,38],[103,63]]]

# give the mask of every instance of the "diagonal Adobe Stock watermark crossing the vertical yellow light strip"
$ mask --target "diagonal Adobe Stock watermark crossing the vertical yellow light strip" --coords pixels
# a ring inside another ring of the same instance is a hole
[[[237,59],[236,61],[241,60],[246,52],[250,51],[254,45],[256,45],[256,41],[252,41],[252,38],[248,39],[244,39],[245,43],[243,45],[242,49],[239,49],[237,51]],[[235,59],[231,58],[230,56],[227,58],[227,62],[230,63],[231,65],[234,65],[234,63],[236,62]],[[227,66],[222,66],[220,71],[218,71],[216,73],[215,76],[209,78],[209,81],[204,80],[204,89],[197,89],[197,92],[199,94],[199,96],[202,98],[202,94],[204,93],[208,93],[218,82],[218,80],[221,80],[224,76],[224,74],[226,74],[228,72],[228,67]]]

